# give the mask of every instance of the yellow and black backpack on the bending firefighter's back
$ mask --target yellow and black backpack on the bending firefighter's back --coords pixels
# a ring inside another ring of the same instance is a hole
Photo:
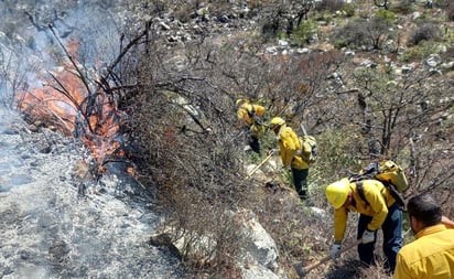
[[[361,181],[367,179],[375,179],[383,183],[396,202],[404,207],[406,202],[402,193],[408,189],[408,181],[402,168],[391,160],[383,160],[381,162],[371,162],[359,173],[352,174],[348,180],[349,182],[356,182],[358,194],[366,201],[366,204],[368,204],[368,202],[364,196]]]

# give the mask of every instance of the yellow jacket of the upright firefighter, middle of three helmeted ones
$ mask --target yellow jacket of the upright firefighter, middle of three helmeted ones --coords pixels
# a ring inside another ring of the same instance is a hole
[[[278,140],[279,154],[284,167],[290,165],[298,170],[309,169],[309,163],[301,158],[301,141],[292,128],[283,125],[279,130]]]

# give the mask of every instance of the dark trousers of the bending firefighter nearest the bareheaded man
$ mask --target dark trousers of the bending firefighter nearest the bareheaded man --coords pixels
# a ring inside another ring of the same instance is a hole
[[[367,225],[371,219],[372,217],[370,216],[359,215],[357,239],[363,237],[363,233],[366,230]],[[388,208],[388,216],[381,225],[381,229],[383,232],[385,266],[390,272],[393,272],[396,267],[396,256],[402,247],[402,212],[398,203],[394,203]],[[372,243],[358,245],[359,259],[366,265],[375,264],[374,251],[376,240],[377,232]]]

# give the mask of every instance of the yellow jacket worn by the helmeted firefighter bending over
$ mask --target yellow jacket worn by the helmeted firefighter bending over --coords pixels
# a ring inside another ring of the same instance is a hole
[[[348,186],[354,202],[347,208],[343,206],[334,211],[334,240],[337,243],[344,239],[349,212],[371,216],[372,219],[367,225],[367,229],[376,230],[383,224],[388,215],[388,207],[396,203],[389,190],[378,180],[363,181],[364,196],[369,204],[366,204],[366,201],[359,196],[355,182],[352,182]]]

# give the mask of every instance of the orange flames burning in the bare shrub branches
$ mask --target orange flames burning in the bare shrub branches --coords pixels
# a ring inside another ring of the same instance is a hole
[[[75,57],[78,43],[69,42],[67,50]],[[97,92],[90,93],[72,64],[66,63],[53,78],[45,78],[42,87],[32,88],[17,95],[19,109],[32,119],[52,124],[66,136],[80,132],[82,140],[90,148],[98,162],[106,155],[123,155],[118,141],[121,119],[125,114],[117,109],[111,96]],[[94,98],[88,105],[87,98]]]

